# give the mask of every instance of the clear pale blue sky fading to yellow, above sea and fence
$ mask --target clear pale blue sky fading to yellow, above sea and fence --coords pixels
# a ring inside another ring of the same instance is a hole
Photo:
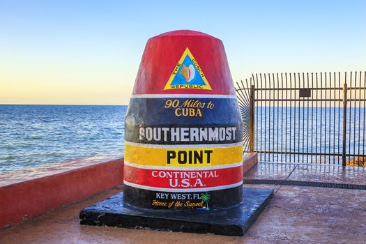
[[[146,40],[220,38],[235,81],[360,71],[366,1],[0,1],[0,104],[127,105]]]

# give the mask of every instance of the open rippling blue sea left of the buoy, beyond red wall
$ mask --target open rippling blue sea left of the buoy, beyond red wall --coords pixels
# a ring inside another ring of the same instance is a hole
[[[0,172],[123,156],[127,106],[0,105]]]

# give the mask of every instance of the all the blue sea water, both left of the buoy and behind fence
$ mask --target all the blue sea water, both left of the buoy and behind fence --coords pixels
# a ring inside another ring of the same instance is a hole
[[[127,106],[0,105],[0,172],[91,156],[122,157],[126,110]],[[351,155],[366,151],[365,110],[347,109],[346,152]],[[254,148],[342,153],[342,113],[337,107],[256,107]],[[338,157],[273,153],[262,153],[259,160],[342,163]]]

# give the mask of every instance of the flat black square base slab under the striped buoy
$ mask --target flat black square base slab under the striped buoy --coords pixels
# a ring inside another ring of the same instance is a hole
[[[166,211],[133,208],[123,204],[123,192],[84,208],[80,224],[132,229],[158,229],[243,236],[257,220],[273,190],[243,188],[243,204],[213,211]]]

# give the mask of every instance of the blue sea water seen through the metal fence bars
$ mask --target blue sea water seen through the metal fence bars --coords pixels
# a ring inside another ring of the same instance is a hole
[[[342,155],[343,107],[258,106],[254,116],[254,151],[267,152],[259,160],[342,164],[342,157],[333,155]],[[365,119],[366,107],[347,107],[346,160],[366,154]]]

